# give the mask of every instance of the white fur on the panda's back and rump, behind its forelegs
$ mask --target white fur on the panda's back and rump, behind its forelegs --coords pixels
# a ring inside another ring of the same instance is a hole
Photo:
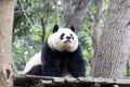
[[[41,51],[36,53],[30,60],[27,62],[24,69],[24,74],[28,73],[34,66],[41,64]]]

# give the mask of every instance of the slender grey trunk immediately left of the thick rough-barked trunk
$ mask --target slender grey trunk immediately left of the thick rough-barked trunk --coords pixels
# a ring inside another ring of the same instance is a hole
[[[96,12],[94,14],[93,26],[92,26],[92,57],[91,57],[91,69],[94,69],[95,61],[98,58],[99,49],[99,35],[100,35],[100,21],[102,15],[103,0],[96,0]],[[91,72],[92,74],[93,72]]]

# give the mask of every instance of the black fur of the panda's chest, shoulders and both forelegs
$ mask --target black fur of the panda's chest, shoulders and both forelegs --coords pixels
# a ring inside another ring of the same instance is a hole
[[[46,50],[46,51],[44,51]],[[52,51],[48,44],[42,50],[43,72],[44,76],[64,76],[66,71],[74,77],[86,76],[84,61],[81,55],[80,46],[75,52]]]

